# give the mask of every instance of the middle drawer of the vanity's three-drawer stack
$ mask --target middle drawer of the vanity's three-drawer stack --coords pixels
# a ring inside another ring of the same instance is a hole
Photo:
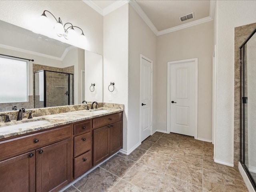
[[[91,150],[92,132],[84,133],[74,137],[74,157]]]

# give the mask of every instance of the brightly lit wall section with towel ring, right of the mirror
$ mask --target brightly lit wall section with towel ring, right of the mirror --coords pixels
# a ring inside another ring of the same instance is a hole
[[[104,16],[104,102],[124,104],[123,149],[128,122],[128,4]],[[113,92],[108,91],[114,82]],[[110,99],[111,97],[111,99]]]

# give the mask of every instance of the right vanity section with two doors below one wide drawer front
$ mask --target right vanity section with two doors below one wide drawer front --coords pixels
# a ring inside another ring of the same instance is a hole
[[[93,119],[93,166],[122,148],[122,116],[120,112]]]

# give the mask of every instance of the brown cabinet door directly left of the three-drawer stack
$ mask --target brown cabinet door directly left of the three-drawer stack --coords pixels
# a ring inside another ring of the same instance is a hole
[[[36,191],[58,191],[71,180],[70,139],[36,150]]]

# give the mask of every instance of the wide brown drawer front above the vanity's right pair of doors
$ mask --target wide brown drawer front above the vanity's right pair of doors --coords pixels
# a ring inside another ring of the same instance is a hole
[[[99,128],[99,127],[112,124],[114,122],[121,121],[122,118],[123,118],[122,112],[95,118],[93,119],[93,128]]]

